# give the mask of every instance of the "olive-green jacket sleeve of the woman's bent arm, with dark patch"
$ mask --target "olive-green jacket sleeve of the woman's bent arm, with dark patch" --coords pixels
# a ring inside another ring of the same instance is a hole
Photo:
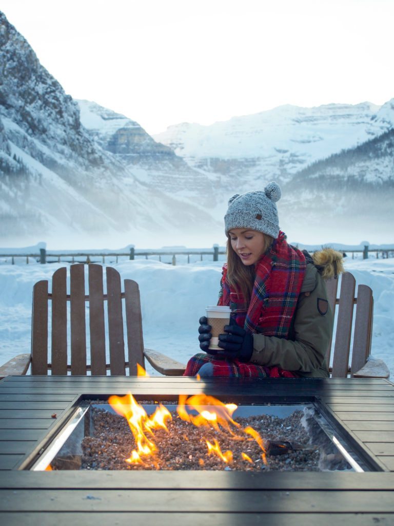
[[[315,280],[311,290],[302,292],[298,299],[293,338],[254,334],[253,363],[299,371],[302,376],[320,369],[323,374],[316,376],[328,376],[325,352],[333,332],[334,317],[328,305],[325,282],[316,267],[313,269]]]

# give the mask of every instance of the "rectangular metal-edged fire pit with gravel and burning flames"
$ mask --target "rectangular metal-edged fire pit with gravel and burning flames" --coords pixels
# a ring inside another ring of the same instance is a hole
[[[316,401],[81,399],[31,469],[369,471],[326,416]]]

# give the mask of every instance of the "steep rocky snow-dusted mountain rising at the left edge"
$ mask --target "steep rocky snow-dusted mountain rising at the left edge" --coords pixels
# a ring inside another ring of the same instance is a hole
[[[200,218],[215,226],[206,210],[149,181],[140,163],[144,148],[175,158],[169,148],[147,136],[134,148],[135,171],[117,155],[121,140],[103,148],[81,124],[78,104],[1,13],[0,70],[0,238],[119,234],[124,244],[125,235],[128,242],[152,231],[171,237],[188,224],[193,232]]]

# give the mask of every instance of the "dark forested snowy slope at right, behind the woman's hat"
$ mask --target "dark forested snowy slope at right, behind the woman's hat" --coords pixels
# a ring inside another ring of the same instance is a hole
[[[392,241],[394,129],[300,170],[283,193],[288,225]]]

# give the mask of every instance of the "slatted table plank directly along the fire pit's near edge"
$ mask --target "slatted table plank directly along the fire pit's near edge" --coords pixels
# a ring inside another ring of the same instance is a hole
[[[2,489],[201,489],[201,490],[375,490],[394,491],[394,473],[271,471],[10,471],[0,473]],[[394,511],[394,510],[393,510]]]

